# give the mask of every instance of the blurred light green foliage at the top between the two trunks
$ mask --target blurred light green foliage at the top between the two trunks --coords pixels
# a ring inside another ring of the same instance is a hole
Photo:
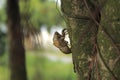
[[[63,24],[62,17],[58,13],[56,3],[53,1],[42,1],[42,0],[29,0],[21,1],[21,13],[24,13],[25,6],[29,13],[29,21],[36,28],[40,28],[42,25],[47,26],[50,29],[54,25]]]

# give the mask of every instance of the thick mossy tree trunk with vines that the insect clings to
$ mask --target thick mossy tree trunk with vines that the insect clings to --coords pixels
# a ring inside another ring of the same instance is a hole
[[[118,1],[113,3],[112,0],[105,2],[105,0],[61,0],[61,10],[66,19],[71,41],[74,70],[79,80],[120,79],[119,23],[108,24],[108,19],[119,17],[120,11],[116,6],[120,3]],[[106,6],[101,17],[104,3]],[[105,26],[101,26],[101,21]]]

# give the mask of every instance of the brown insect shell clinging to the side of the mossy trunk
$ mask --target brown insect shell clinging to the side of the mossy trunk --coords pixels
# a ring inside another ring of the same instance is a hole
[[[70,54],[71,48],[68,46],[68,41],[65,40],[66,30],[67,29],[63,29],[62,34],[58,33],[57,31],[54,33],[53,44],[63,53]]]

